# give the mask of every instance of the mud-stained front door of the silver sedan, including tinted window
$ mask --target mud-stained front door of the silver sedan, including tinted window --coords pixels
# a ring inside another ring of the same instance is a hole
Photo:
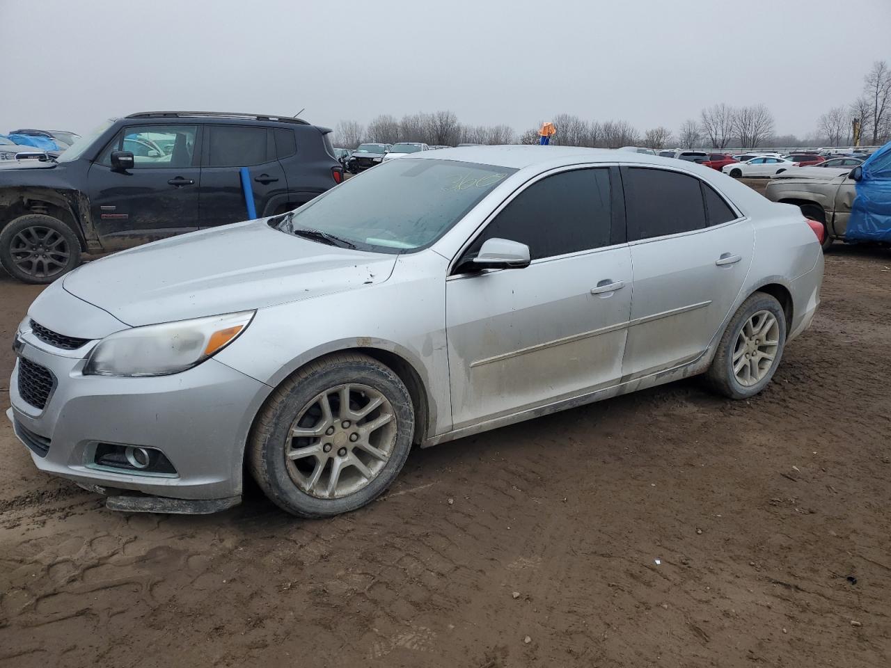
[[[532,264],[446,281],[454,428],[617,383],[632,272],[611,210],[609,168],[548,175],[463,252],[456,266],[486,239],[509,239]]]

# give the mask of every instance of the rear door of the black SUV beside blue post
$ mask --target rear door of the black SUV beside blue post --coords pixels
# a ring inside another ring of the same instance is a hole
[[[215,227],[248,219],[241,186],[241,167],[247,167],[257,216],[267,204],[288,191],[284,170],[276,158],[272,128],[264,126],[204,126],[200,226]]]

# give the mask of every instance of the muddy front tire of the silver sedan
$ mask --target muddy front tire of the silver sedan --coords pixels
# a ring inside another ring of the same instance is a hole
[[[348,411],[341,408],[344,387]],[[298,517],[332,517],[361,508],[392,484],[413,434],[412,397],[393,371],[364,354],[331,354],[307,364],[266,400],[251,431],[248,464],[280,508]]]

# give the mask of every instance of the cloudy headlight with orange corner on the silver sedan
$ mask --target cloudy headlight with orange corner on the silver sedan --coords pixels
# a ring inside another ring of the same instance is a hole
[[[85,376],[168,376],[204,362],[248,328],[256,311],[119,331],[90,353]]]

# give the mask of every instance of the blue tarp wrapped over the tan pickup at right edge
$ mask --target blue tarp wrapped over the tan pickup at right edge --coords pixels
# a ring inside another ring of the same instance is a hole
[[[891,142],[862,164],[845,240],[891,241]]]

